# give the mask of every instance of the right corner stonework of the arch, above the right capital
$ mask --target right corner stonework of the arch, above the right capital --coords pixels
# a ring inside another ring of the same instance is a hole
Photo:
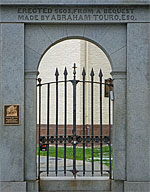
[[[110,58],[113,71],[126,71],[126,25],[108,25],[99,44]]]

